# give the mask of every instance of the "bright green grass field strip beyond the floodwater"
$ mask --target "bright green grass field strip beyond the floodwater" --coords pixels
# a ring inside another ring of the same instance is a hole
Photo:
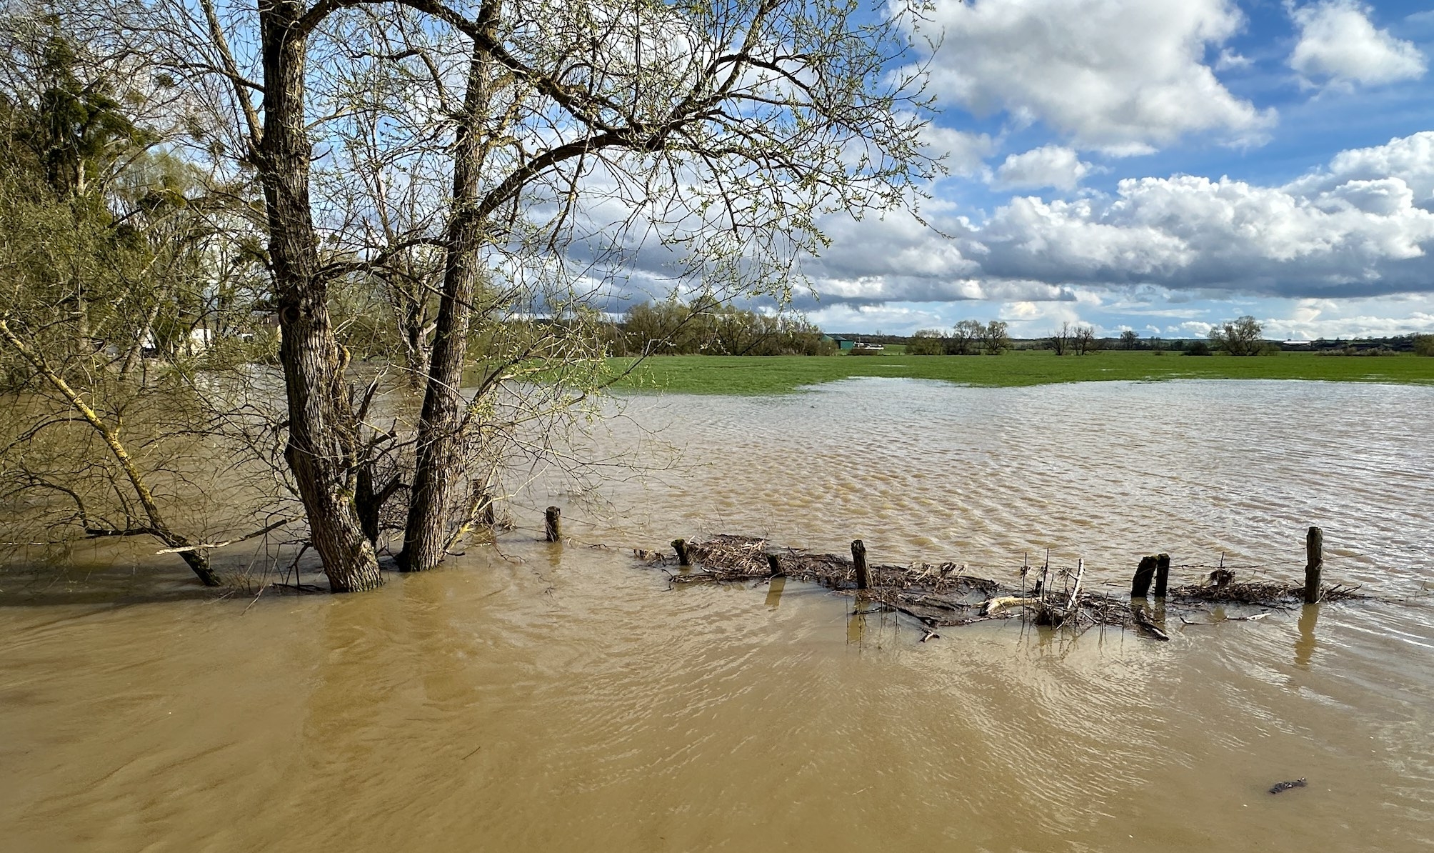
[[[614,358],[614,367],[631,360]],[[684,394],[783,394],[802,386],[858,376],[931,378],[972,386],[1169,378],[1295,378],[1434,384],[1434,358],[1344,357],[1281,353],[1157,356],[1147,350],[1055,356],[1022,350],[1005,356],[654,356],[618,387]]]

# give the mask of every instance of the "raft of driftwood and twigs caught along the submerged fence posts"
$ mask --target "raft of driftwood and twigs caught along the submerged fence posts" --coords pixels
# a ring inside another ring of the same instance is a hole
[[[1169,639],[1164,622],[1169,608],[1186,614],[1222,605],[1245,605],[1263,612],[1225,616],[1259,619],[1269,611],[1295,609],[1302,604],[1304,583],[1281,581],[1236,582],[1233,572],[1220,569],[1205,582],[1172,588],[1164,598],[1146,599],[1107,595],[1081,588],[1083,568],[1031,569],[1030,583],[1011,586],[969,575],[964,563],[912,563],[908,566],[872,565],[868,588],[856,589],[856,566],[832,553],[809,553],[780,548],[756,536],[714,536],[706,542],[685,542],[691,566],[668,572],[673,583],[711,583],[767,581],[777,576],[822,583],[837,592],[856,594],[859,599],[880,604],[919,619],[929,628],[971,625],[989,619],[1018,618],[1037,625],[1130,628],[1156,639]],[[677,558],[637,549],[638,559],[655,566],[675,566]],[[1173,566],[1186,572],[1209,566]],[[1245,566],[1248,568],[1248,566]],[[1038,582],[1044,575],[1044,583]],[[1321,588],[1321,601],[1368,599],[1355,588]],[[1174,614],[1183,624],[1183,614]]]

